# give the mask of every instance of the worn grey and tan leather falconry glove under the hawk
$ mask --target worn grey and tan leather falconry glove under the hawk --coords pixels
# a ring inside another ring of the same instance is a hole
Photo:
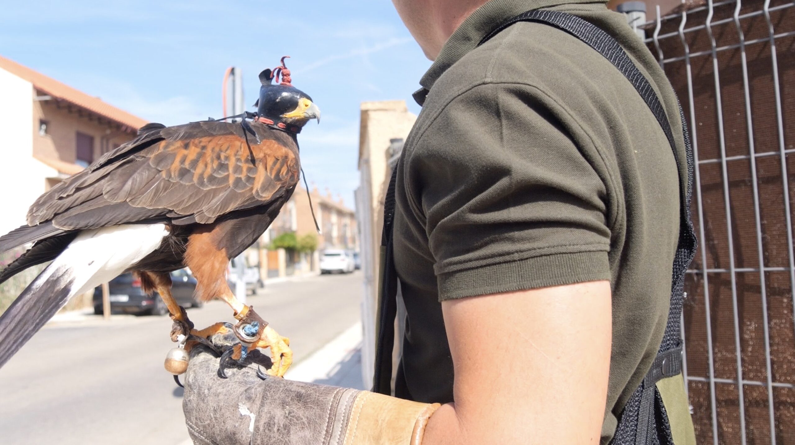
[[[210,339],[219,350],[237,339]],[[240,367],[218,376],[209,347],[190,352],[183,410],[198,444],[419,445],[439,404],[423,404],[351,388],[267,376],[270,359],[252,351]],[[263,378],[264,377],[264,378]]]

